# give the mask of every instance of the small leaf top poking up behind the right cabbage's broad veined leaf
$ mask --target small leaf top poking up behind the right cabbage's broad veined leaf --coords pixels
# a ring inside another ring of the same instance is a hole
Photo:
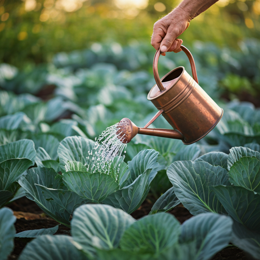
[[[207,161],[210,165],[228,170],[228,157],[229,155],[223,152],[208,152],[194,161]]]

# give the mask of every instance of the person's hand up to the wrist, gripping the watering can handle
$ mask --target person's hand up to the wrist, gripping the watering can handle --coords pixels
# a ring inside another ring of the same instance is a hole
[[[151,45],[155,50],[160,48],[162,55],[167,51],[181,51],[181,39],[176,39],[189,26],[190,16],[177,7],[171,13],[154,23]]]

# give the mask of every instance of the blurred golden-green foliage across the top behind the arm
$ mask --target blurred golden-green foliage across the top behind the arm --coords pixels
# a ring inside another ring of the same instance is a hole
[[[154,22],[179,2],[2,0],[0,62],[26,68],[51,61],[57,52],[95,48],[96,42],[123,46],[143,42],[148,46]],[[187,46],[202,41],[238,50],[241,40],[260,38],[259,15],[260,0],[220,0],[191,21],[181,39]]]

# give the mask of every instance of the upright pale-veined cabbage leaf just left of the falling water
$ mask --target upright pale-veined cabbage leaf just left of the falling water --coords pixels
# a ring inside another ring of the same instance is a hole
[[[67,137],[63,139],[58,147],[58,156],[60,168],[66,172],[65,165],[67,161],[80,161],[83,165],[86,163],[88,151],[94,147],[94,141],[83,137]]]

